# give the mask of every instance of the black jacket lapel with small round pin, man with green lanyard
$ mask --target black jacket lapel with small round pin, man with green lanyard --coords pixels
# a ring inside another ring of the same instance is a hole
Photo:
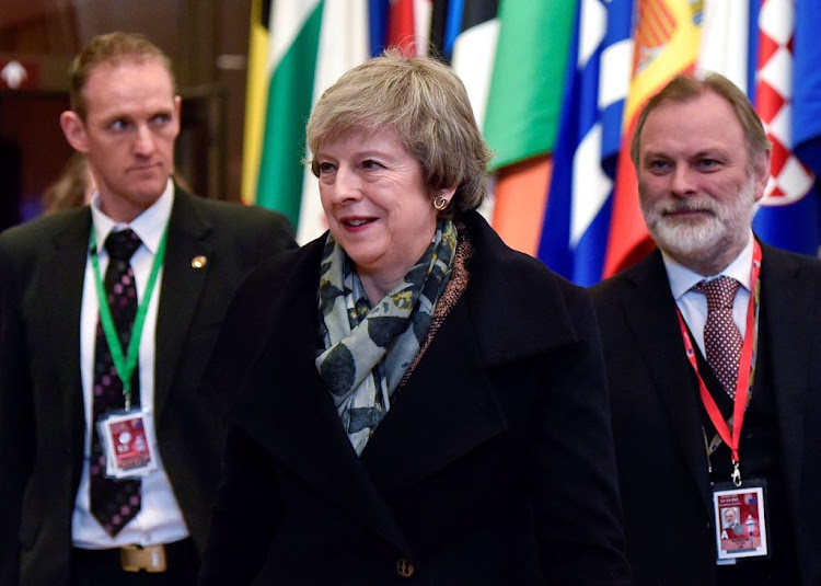
[[[195,268],[192,260],[196,256],[210,258],[213,252],[207,240],[211,226],[195,208],[192,197],[177,188],[169,219],[155,334],[155,355],[162,357],[154,361],[154,409],[158,421],[210,271],[210,263]]]

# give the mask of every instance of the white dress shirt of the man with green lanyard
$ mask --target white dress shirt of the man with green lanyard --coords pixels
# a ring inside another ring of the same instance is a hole
[[[103,243],[112,230],[130,228],[142,244],[131,256],[137,285],[138,301],[142,301],[146,285],[154,255],[160,246],[165,226],[171,217],[174,203],[174,184],[169,180],[162,196],[129,223],[117,223],[100,209],[100,196],[91,202],[93,230],[97,241],[97,258],[101,275],[108,266],[108,253]],[[162,284],[162,268],[148,306],[148,313],[140,337],[140,406],[153,412],[154,404],[154,335],[157,332],[157,309]],[[127,544],[152,545],[172,543],[188,537],[188,528],[183,519],[180,505],[174,497],[171,483],[162,466],[159,448],[154,450],[158,468],[142,479],[142,498],[139,514],[112,538],[105,532],[90,509],[89,456],[91,451],[92,388],[94,384],[94,346],[96,343],[96,324],[100,306],[95,289],[94,272],[91,255],[85,262],[82,308],[80,314],[80,366],[83,384],[83,403],[85,407],[85,439],[83,448],[83,469],[80,487],[74,501],[74,513],[71,518],[71,539],[77,548],[105,549]],[[153,413],[152,413],[153,416]],[[152,420],[149,420],[152,421]],[[147,426],[150,441],[157,447],[157,434],[153,426]]]

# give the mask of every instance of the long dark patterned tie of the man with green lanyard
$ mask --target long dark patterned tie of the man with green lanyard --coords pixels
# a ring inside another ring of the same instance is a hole
[[[140,239],[131,230],[111,232],[105,239],[108,251],[108,268],[105,271],[105,291],[117,329],[123,353],[128,348],[131,326],[137,314],[137,286],[129,264],[131,255],[140,246]],[[94,397],[91,436],[91,513],[105,531],[114,537],[140,510],[141,482],[139,480],[115,480],[105,478],[105,455],[97,435],[96,422],[109,410],[125,406],[123,382],[117,375],[108,351],[103,326],[97,320],[94,351]],[[139,368],[131,377],[131,405],[140,404]]]

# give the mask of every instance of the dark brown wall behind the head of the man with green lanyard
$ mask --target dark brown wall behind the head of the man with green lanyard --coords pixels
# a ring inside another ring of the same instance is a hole
[[[199,195],[239,200],[250,12],[251,0],[0,0],[0,69],[16,59],[32,73],[16,89],[0,79],[0,142],[15,153],[3,176],[18,181],[3,181],[0,229],[36,214],[66,163],[66,71],[88,39],[114,30],[146,34],[174,61],[178,171]]]

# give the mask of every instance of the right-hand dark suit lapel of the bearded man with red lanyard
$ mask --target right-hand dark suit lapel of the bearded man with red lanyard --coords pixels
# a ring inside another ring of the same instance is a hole
[[[807,376],[810,369],[812,346],[796,343],[811,340],[809,331],[813,322],[801,308],[818,302],[821,291],[800,281],[795,260],[778,251],[762,245],[764,256],[761,269],[761,315],[766,320],[771,340],[766,341],[772,355],[773,394],[776,405],[784,464],[784,483],[787,501],[799,527],[799,487],[801,479],[801,453],[803,449]],[[753,400],[755,394],[753,393]]]

